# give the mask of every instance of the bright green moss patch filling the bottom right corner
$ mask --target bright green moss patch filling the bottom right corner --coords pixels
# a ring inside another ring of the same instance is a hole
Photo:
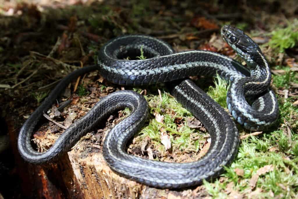
[[[278,144],[276,144],[275,136],[280,139]],[[278,150],[277,145],[280,146],[281,143],[283,143],[283,150],[288,152]],[[223,181],[221,183],[218,179],[213,183],[204,181],[208,193],[214,198],[228,198],[224,190],[229,183],[233,182],[233,190],[244,194],[251,189],[252,176],[258,174],[255,186],[256,190],[262,190],[258,193],[258,196],[262,196],[261,198],[272,198],[272,193],[280,198],[295,198],[298,191],[298,158],[286,158],[289,155],[287,149],[289,145],[285,143],[288,143],[288,140],[282,131],[264,134],[259,138],[254,136],[246,138],[240,145],[237,158],[222,175]],[[297,144],[293,150],[297,152]],[[237,169],[244,171],[243,176],[237,174]]]

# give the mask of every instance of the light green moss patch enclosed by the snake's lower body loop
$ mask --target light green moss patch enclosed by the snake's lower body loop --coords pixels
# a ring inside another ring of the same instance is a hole
[[[162,92],[160,99],[159,95],[146,95],[146,100],[149,104],[149,124],[140,132],[140,138],[149,137],[156,149],[165,152],[165,147],[161,144],[161,132],[167,132],[170,135],[172,148],[175,149],[190,149],[197,152],[200,149],[200,140],[205,140],[201,132],[195,129],[190,129],[186,123],[187,119],[192,119],[192,114],[184,109],[175,98],[172,98],[166,92]],[[159,115],[163,117],[162,121],[157,121]],[[179,126],[177,125],[179,121]],[[198,137],[192,140],[191,136]]]

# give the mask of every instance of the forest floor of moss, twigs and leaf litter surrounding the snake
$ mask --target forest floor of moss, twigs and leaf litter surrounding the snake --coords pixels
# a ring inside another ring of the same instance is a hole
[[[177,52],[211,50],[245,64],[220,36],[220,28],[232,24],[251,36],[266,55],[280,117],[277,125],[264,132],[250,132],[238,125],[238,156],[220,177],[194,188],[192,197],[204,192],[207,198],[298,198],[297,16],[294,0],[1,0],[0,143],[16,138],[26,118],[61,78],[96,63],[98,50],[108,40],[122,34],[146,34],[167,41]],[[192,79],[226,108],[227,82],[200,75]],[[131,89],[145,96],[150,112],[145,127],[129,144],[129,153],[160,161],[190,162],[207,152],[210,138],[204,126],[162,85],[119,86],[97,71],[66,88],[59,103],[69,105],[59,111],[57,104],[52,107],[50,121],[35,132],[33,142],[39,151],[48,149],[63,132],[55,123],[68,127],[100,98]],[[124,109],[111,115],[105,128],[84,138],[86,148],[101,145],[103,132],[128,114]],[[1,180],[4,198],[23,196],[13,158],[15,147],[15,140],[0,144],[0,179],[9,179],[6,183]]]

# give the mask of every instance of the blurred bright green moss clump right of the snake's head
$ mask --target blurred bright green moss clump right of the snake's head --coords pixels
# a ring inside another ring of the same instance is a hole
[[[298,20],[288,23],[288,27],[272,31],[269,45],[283,53],[285,49],[294,47],[298,42]]]

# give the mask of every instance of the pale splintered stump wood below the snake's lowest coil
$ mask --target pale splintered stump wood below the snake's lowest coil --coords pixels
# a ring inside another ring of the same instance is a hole
[[[79,188],[74,192],[77,198],[201,198],[206,196],[202,186],[198,189],[179,191],[163,190],[148,187],[123,178],[114,173],[100,152],[90,152],[88,155],[79,154],[74,150],[68,152],[69,162],[74,174],[74,185]],[[72,173],[67,170],[65,173]],[[62,172],[62,175],[64,175]],[[78,190],[79,189],[79,190]],[[200,191],[198,191],[200,190]],[[73,197],[74,195],[72,195]]]

